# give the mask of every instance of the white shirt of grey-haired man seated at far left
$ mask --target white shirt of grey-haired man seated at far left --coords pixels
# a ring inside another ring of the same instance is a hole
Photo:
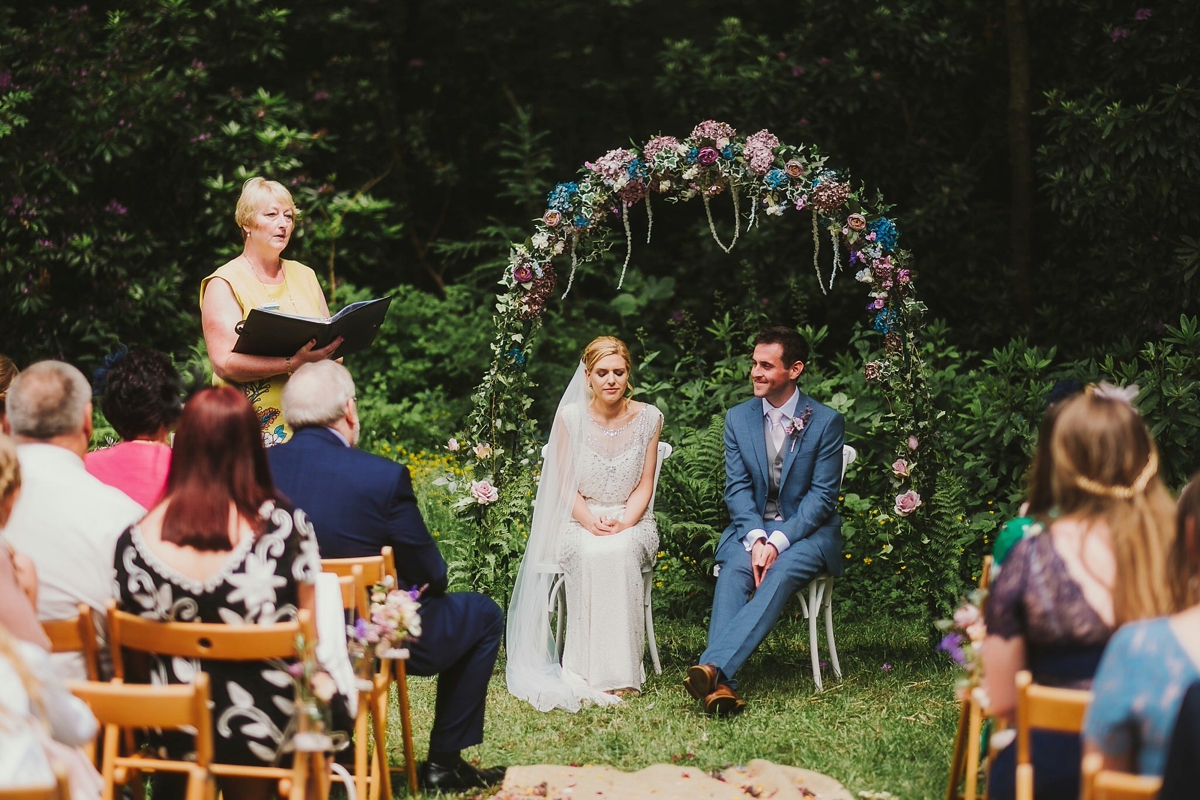
[[[113,597],[116,539],[145,509],[89,475],[83,459],[64,447],[19,445],[17,458],[20,497],[4,535],[37,567],[37,618],[67,619],[88,603],[102,621]],[[62,679],[86,679],[83,655],[55,654],[53,662]]]

